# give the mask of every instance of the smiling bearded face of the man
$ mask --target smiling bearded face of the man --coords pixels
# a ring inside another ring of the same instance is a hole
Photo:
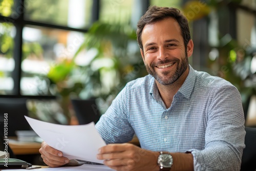
[[[141,38],[147,72],[163,85],[180,78],[188,67],[188,56],[178,22],[170,17],[145,25]]]

